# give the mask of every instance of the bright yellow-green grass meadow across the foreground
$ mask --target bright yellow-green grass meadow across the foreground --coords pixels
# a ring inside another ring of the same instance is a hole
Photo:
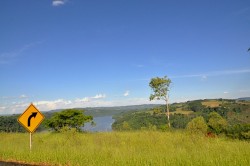
[[[184,132],[0,133],[0,160],[44,165],[250,165],[250,142]]]

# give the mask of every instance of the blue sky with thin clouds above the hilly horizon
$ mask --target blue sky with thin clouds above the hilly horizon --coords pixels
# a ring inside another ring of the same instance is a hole
[[[250,96],[249,0],[0,1],[0,114]]]

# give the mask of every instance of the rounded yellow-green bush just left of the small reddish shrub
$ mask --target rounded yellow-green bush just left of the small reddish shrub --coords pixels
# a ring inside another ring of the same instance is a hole
[[[190,133],[195,133],[195,134],[205,134],[207,133],[207,124],[202,116],[196,117],[192,119],[188,124],[187,124],[187,130]]]

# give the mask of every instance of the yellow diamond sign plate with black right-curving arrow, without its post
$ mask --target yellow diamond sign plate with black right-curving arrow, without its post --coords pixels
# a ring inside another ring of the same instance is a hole
[[[30,133],[33,133],[44,119],[43,114],[31,103],[17,119]]]

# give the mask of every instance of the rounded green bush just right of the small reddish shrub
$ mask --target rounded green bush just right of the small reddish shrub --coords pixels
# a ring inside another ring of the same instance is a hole
[[[211,112],[209,114],[208,127],[211,132],[220,134],[225,131],[227,127],[227,121],[222,118],[217,112]]]

